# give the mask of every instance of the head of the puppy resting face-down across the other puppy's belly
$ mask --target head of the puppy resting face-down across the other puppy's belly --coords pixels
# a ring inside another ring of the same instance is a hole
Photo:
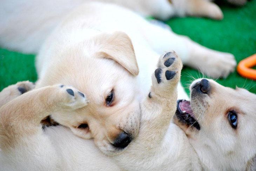
[[[82,138],[94,138],[108,155],[127,147],[140,125],[135,77],[139,69],[130,38],[122,32],[97,34],[67,49],[54,66],[59,73],[51,71],[51,79],[78,88],[89,103],[73,114],[54,113],[52,118]]]

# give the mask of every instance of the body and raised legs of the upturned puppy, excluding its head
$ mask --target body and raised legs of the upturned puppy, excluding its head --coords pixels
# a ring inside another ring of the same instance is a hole
[[[169,52],[160,57],[157,67],[150,93],[140,105],[139,135],[125,151],[112,156],[121,168],[109,157],[100,155],[90,140],[72,136],[61,127],[41,129],[40,121],[49,113],[63,113],[63,119],[65,113],[70,113],[75,119],[72,111],[87,105],[83,93],[64,85],[32,90],[0,108],[1,168],[7,171],[201,170],[186,135],[170,123],[176,111],[181,60]]]

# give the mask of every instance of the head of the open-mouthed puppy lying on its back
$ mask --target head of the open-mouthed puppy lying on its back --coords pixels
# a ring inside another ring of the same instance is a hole
[[[256,154],[256,95],[213,80],[195,80],[191,102],[178,101],[175,122],[206,168],[245,170]]]

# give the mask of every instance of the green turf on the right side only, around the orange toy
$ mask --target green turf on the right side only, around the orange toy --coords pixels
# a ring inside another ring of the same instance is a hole
[[[175,33],[187,35],[192,40],[211,49],[230,52],[237,62],[256,53],[256,1],[250,1],[242,8],[219,4],[224,13],[222,21],[193,17],[174,18],[166,23]],[[189,67],[184,67],[181,81],[188,87],[192,78],[202,74]],[[256,81],[242,78],[237,72],[227,79],[218,79],[218,83],[235,88],[244,87],[256,93]],[[188,89],[187,89],[188,92]]]

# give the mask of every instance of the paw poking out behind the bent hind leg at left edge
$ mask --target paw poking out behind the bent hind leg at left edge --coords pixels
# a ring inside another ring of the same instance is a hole
[[[21,94],[26,93],[34,88],[34,83],[31,83],[29,81],[21,81],[4,88],[0,92],[0,107],[20,96]]]

